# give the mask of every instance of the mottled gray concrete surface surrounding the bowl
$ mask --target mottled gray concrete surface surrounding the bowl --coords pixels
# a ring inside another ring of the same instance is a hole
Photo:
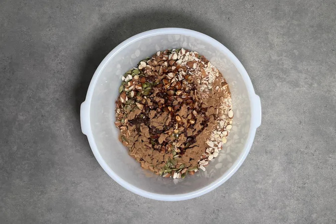
[[[335,0],[1,0],[0,223],[336,223]],[[227,46],[263,109],[225,184],[159,202],[115,183],[79,124],[104,56],[184,27]]]

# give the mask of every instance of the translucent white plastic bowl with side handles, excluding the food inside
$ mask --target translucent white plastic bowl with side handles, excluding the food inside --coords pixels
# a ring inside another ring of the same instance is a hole
[[[121,76],[159,50],[185,48],[210,60],[229,84],[234,111],[227,143],[206,171],[185,179],[143,170],[118,140],[115,100]],[[124,188],[147,198],[179,201],[203,195],[229,179],[245,160],[261,123],[260,98],[239,60],[213,38],[188,29],[163,28],[135,35],[113,49],[97,68],[81,105],[82,131],[106,173]]]

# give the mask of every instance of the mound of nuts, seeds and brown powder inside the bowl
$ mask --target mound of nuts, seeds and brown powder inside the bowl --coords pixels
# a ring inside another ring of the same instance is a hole
[[[120,141],[144,169],[184,178],[218,156],[232,128],[228,84],[203,56],[158,51],[122,77]]]

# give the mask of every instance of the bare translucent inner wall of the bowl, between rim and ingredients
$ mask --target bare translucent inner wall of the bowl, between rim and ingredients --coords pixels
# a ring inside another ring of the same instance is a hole
[[[159,50],[185,48],[197,51],[211,61],[229,84],[234,111],[233,128],[219,156],[206,167],[185,179],[162,178],[143,170],[118,140],[114,126],[115,100],[119,95],[121,76],[137,63]],[[97,149],[107,166],[122,180],[141,190],[161,195],[178,195],[204,189],[227,172],[238,159],[250,129],[251,108],[245,83],[227,52],[195,35],[159,34],[133,40],[119,49],[104,65],[94,87],[90,105],[90,125]]]

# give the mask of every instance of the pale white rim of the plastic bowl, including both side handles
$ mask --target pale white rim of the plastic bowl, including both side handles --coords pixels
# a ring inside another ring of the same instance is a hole
[[[119,51],[123,50],[126,46],[129,44],[136,42],[140,39],[147,38],[150,36],[155,36],[155,35],[162,35],[162,34],[180,34],[180,35],[186,35],[186,36],[192,36],[197,39],[202,39],[203,41],[206,41],[216,47],[218,50],[222,51],[227,55],[227,57],[231,60],[231,62],[235,65],[237,68],[238,72],[241,74],[244,83],[246,85],[247,91],[248,91],[248,96],[250,99],[250,107],[251,107],[251,123],[250,123],[250,129],[249,133],[247,136],[246,143],[244,145],[244,149],[242,150],[242,153],[238,157],[238,159],[233,163],[233,165],[228,169],[220,178],[218,178],[216,181],[212,182],[211,184],[193,192],[189,193],[184,193],[184,194],[177,194],[177,195],[162,195],[162,194],[156,194],[156,193],[151,193],[147,192],[145,190],[142,190],[140,188],[137,188],[125,180],[123,180],[121,177],[119,177],[105,162],[103,157],[98,151],[97,145],[95,143],[95,140],[93,138],[93,134],[91,131],[90,127],[90,105],[91,105],[91,100],[92,100],[92,95],[94,88],[96,86],[97,80],[105,68],[106,64],[112,59]],[[82,127],[82,132],[87,136],[90,147],[92,149],[92,152],[94,156],[96,157],[98,163],[101,165],[101,167],[105,170],[105,172],[118,184],[126,188],[127,190],[138,194],[140,196],[154,199],[154,200],[160,200],[160,201],[182,201],[182,200],[187,200],[187,199],[192,199],[201,195],[204,195],[213,189],[219,187],[221,184],[223,184],[226,180],[228,180],[241,166],[241,164],[244,162],[247,154],[250,151],[250,148],[252,146],[256,129],[257,127],[260,126],[261,124],[261,104],[260,104],[260,98],[257,96],[254,92],[254,88],[252,85],[252,82],[250,80],[250,77],[248,76],[245,68],[243,65],[240,63],[240,61],[234,56],[234,54],[228,50],[224,45],[222,45],[220,42],[217,40],[213,39],[210,36],[207,36],[203,33],[194,31],[194,30],[189,30],[189,29],[184,29],[184,28],[160,28],[160,29],[153,29],[149,31],[145,31],[142,33],[139,33],[137,35],[134,35],[127,40],[123,41],[120,43],[117,47],[115,47],[105,58],[104,60],[100,63],[98,68],[96,69],[88,91],[87,95],[85,98],[85,101],[81,105],[80,109],[80,120],[81,120],[81,127]]]

